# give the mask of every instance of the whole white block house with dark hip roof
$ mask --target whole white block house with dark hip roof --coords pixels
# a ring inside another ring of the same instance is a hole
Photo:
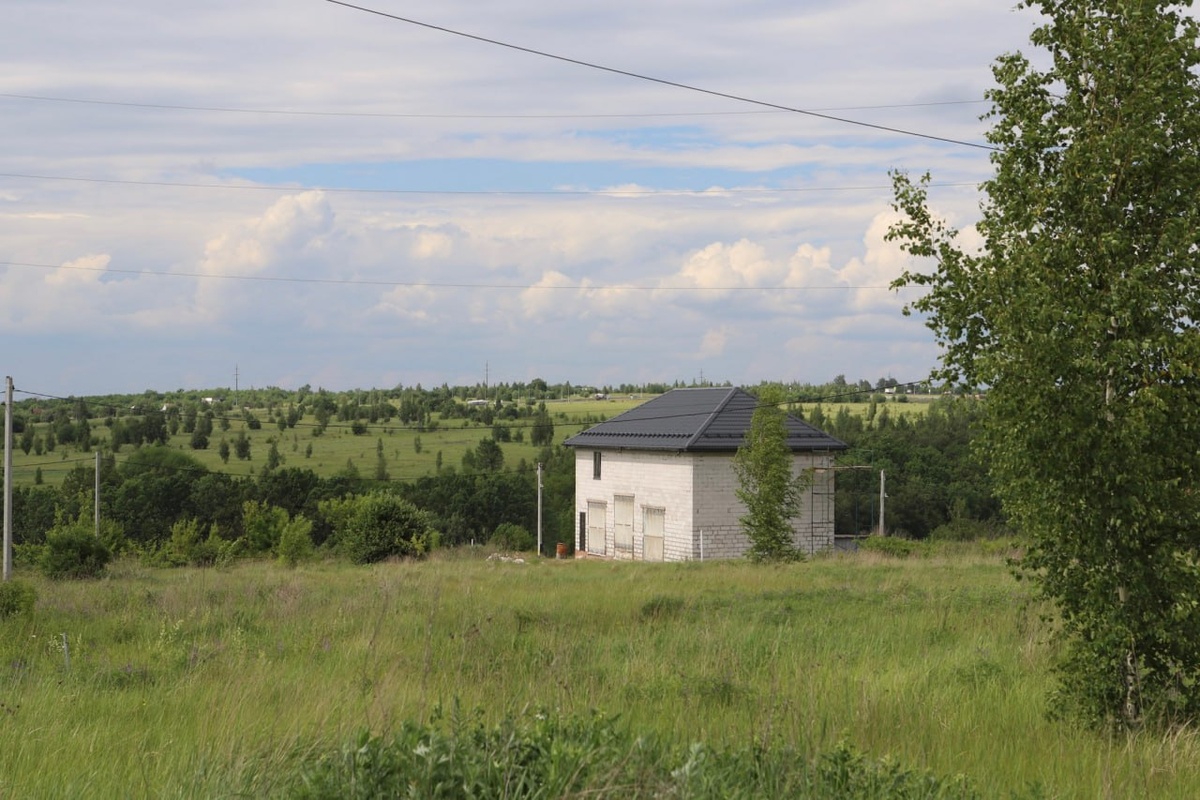
[[[646,561],[739,558],[733,455],[758,401],[740,389],[676,389],[569,438],[575,447],[576,553]],[[833,547],[834,455],[846,445],[793,416],[796,474],[810,471],[792,521],[804,553]]]

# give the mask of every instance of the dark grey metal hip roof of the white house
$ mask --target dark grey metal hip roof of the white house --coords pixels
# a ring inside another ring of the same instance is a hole
[[[673,389],[569,438],[568,447],[599,450],[734,451],[758,401],[740,389]],[[846,450],[846,444],[787,415],[793,452]]]

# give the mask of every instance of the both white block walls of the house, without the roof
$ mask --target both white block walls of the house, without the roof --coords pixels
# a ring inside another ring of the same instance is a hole
[[[732,453],[676,453],[636,450],[602,450],[600,480],[593,477],[594,450],[577,449],[575,455],[575,547],[580,547],[578,513],[588,503],[605,505],[604,553],[611,558],[642,560],[644,510],[665,509],[664,558],[688,561],[701,558],[740,558],[749,548],[739,518],[745,513],[734,493],[737,475]],[[796,471],[832,467],[828,453],[796,457]],[[613,510],[617,495],[634,498],[634,547],[617,551]],[[796,547],[804,553],[833,547],[833,471],[814,473],[805,492],[800,516],[793,521]],[[588,552],[596,552],[589,545]]]

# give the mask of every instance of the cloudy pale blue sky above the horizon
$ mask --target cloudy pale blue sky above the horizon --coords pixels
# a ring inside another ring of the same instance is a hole
[[[888,173],[931,173],[970,240],[991,64],[1039,22],[984,0],[359,5],[6,0],[18,391],[924,379]]]

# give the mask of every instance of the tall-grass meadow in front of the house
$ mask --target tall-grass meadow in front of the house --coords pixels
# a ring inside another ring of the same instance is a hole
[[[619,714],[686,745],[868,753],[983,796],[1200,796],[1200,742],[1045,717],[1039,608],[1000,557],[763,567],[274,564],[35,583],[0,621],[0,795],[215,796],[460,702]],[[248,778],[247,776],[258,776]]]

